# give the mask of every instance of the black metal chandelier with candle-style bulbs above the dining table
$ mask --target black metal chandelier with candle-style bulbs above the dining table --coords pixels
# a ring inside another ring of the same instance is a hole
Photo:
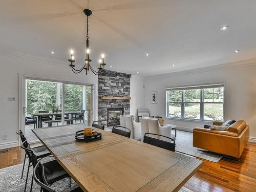
[[[89,58],[89,53],[90,53],[90,49],[89,49],[89,22],[88,22],[88,18],[89,16],[92,14],[92,11],[90,9],[84,9],[83,10],[84,14],[86,14],[87,16],[87,33],[86,33],[86,59],[84,62],[84,66],[80,69],[75,69],[75,65],[73,64],[75,62],[74,60],[74,51],[73,50],[70,50],[70,59],[68,59],[69,62],[71,62],[71,64],[69,65],[71,68],[72,68],[72,71],[73,73],[80,73],[82,72],[83,70],[86,70],[86,75],[87,73],[89,72],[89,70],[91,70],[93,72],[94,75],[99,75],[100,72],[103,71],[104,69],[104,66],[106,65],[104,63],[104,54],[101,54],[101,59],[99,59],[99,68],[98,68],[98,71],[94,70],[91,65],[90,65],[90,62],[92,61],[90,58]]]

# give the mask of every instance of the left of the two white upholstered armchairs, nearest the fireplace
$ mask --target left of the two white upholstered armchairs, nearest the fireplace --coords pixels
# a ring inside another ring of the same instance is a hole
[[[140,123],[135,122],[132,115],[120,115],[120,125],[131,130],[131,139],[141,141]]]

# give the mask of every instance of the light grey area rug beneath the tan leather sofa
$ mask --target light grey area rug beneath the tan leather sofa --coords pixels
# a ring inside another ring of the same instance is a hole
[[[193,147],[193,133],[190,132],[177,130],[175,143],[175,150],[183,154],[199,157],[215,163],[218,163],[219,160],[223,157],[221,155],[208,153],[206,150],[199,151],[202,149]]]

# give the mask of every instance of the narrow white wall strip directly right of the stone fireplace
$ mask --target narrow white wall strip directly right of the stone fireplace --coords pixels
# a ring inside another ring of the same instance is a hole
[[[144,107],[144,78],[138,75],[131,76],[131,102],[130,102],[130,113],[137,119],[137,109]]]

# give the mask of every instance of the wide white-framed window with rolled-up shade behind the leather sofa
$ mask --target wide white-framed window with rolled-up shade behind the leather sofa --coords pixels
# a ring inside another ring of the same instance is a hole
[[[223,120],[224,83],[166,89],[166,117]]]

